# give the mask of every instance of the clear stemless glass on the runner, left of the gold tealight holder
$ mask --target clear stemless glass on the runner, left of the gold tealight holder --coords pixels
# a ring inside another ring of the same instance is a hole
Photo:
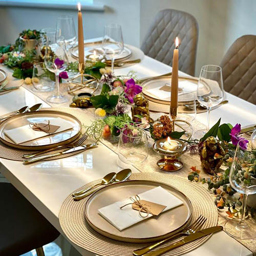
[[[136,127],[125,127],[118,143],[118,157],[128,164],[142,163],[148,155],[146,133]]]

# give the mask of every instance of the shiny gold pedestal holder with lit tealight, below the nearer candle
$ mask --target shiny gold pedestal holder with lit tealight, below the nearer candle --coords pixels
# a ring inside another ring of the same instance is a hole
[[[167,147],[166,147],[167,145]],[[169,145],[169,146],[168,146]],[[164,158],[157,161],[157,166],[165,172],[176,172],[183,167],[183,163],[177,159],[186,151],[185,143],[179,139],[160,139],[153,144],[153,149]]]

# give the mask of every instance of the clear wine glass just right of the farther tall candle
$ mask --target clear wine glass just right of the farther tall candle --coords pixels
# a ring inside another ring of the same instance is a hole
[[[111,59],[112,73],[114,73],[115,58],[123,51],[123,35],[120,25],[105,25],[102,48],[104,54]]]

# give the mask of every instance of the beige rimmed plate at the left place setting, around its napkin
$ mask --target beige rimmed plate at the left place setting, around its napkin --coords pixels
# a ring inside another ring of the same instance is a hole
[[[24,142],[21,144],[15,144],[8,136],[5,135],[6,130],[11,130],[31,122],[40,123],[46,119],[51,118],[62,118],[70,122],[73,126],[72,130],[63,131],[60,133],[55,133],[51,135],[47,135],[45,137]],[[52,111],[52,110],[41,110],[38,112],[28,112],[19,114],[16,116],[12,116],[6,121],[0,124],[0,140],[4,144],[18,148],[20,150],[47,150],[49,148],[53,148],[60,145],[66,145],[76,139],[80,131],[82,129],[81,122],[71,114],[60,112],[60,111]]]

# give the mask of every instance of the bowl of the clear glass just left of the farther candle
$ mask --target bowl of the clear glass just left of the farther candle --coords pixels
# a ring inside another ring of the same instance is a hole
[[[76,29],[73,16],[63,15],[57,18],[56,41],[63,36],[67,49],[76,44]]]

